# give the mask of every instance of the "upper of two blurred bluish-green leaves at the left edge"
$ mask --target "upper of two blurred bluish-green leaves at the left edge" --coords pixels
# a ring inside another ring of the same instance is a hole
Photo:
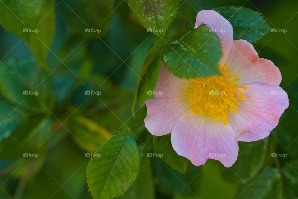
[[[9,60],[0,66],[0,90],[6,100],[29,111],[51,111],[52,79],[33,60]]]

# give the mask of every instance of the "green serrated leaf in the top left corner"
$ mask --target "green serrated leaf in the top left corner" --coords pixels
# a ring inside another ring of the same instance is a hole
[[[2,0],[0,3],[0,23],[9,32],[29,42],[36,25],[44,0]]]

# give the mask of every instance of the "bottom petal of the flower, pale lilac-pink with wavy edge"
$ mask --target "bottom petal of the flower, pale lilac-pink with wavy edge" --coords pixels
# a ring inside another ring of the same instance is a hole
[[[192,114],[191,110],[175,124],[171,142],[178,155],[188,158],[196,166],[205,164],[210,158],[230,167],[238,156],[236,133],[230,125]]]

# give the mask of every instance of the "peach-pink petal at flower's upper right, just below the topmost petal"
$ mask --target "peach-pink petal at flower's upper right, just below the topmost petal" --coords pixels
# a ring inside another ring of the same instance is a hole
[[[279,69],[267,59],[259,59],[254,47],[245,40],[235,40],[226,64],[230,73],[240,77],[239,85],[267,84],[278,86],[281,82]]]

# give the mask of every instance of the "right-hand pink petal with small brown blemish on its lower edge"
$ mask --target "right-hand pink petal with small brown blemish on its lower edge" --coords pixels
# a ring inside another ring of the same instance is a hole
[[[228,120],[238,141],[257,141],[269,136],[289,106],[287,93],[279,86],[252,84],[241,90],[246,96],[239,100],[239,113],[230,113]]]

